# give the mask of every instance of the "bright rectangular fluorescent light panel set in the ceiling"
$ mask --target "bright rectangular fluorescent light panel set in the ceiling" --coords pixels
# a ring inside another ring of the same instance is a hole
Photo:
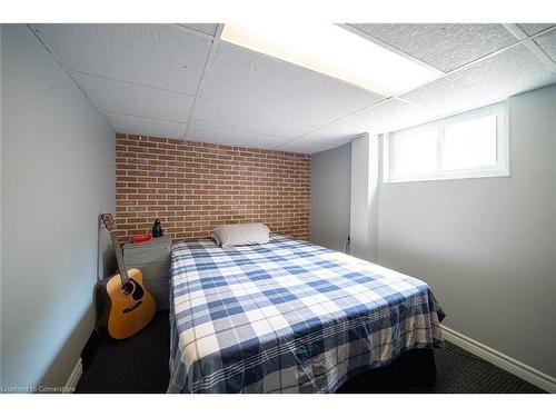
[[[386,97],[443,73],[334,23],[226,23],[221,39]]]

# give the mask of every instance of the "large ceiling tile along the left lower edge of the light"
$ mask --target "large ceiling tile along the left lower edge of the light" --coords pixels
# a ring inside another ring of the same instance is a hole
[[[201,97],[327,125],[384,99],[344,81],[221,42]]]

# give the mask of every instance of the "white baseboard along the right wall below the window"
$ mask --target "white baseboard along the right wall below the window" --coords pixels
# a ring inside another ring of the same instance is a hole
[[[520,363],[507,355],[499,353],[488,346],[485,346],[477,340],[474,340],[467,336],[451,330],[446,326],[441,326],[444,331],[444,337],[446,340],[451,341],[454,345],[478,356],[481,359],[502,368],[516,377],[519,377],[527,383],[530,383],[545,391],[556,394],[556,378],[549,375],[543,374],[542,371]]]

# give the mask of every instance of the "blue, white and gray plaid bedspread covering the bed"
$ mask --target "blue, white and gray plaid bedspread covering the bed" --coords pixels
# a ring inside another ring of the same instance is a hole
[[[168,393],[330,393],[443,345],[423,281],[299,240],[177,244]]]

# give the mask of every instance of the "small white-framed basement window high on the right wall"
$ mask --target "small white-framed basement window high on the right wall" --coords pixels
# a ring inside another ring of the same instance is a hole
[[[384,182],[509,176],[506,102],[384,135]]]

